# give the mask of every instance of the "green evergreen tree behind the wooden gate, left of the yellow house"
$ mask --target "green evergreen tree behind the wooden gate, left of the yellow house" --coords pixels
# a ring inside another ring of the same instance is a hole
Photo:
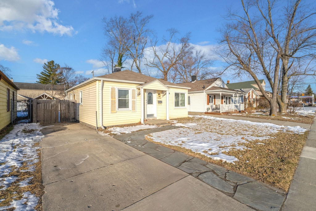
[[[57,71],[60,68],[59,64],[56,64],[53,60],[44,63],[43,71],[40,74],[36,74],[38,81],[36,83],[39,84],[52,84],[56,85],[60,82],[60,76]]]

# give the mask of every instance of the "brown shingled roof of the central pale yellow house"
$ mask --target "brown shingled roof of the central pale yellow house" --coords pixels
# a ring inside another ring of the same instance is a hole
[[[109,78],[109,79],[118,79],[118,80],[125,80],[125,81],[138,81],[143,83],[148,83],[154,80],[160,81],[162,84],[166,86],[181,86],[181,87],[187,87],[182,84],[174,84],[168,81],[164,81],[162,79],[146,76],[137,72],[133,72],[130,70],[123,70],[119,72],[114,72],[112,74],[107,74],[103,76],[98,76],[98,78]]]

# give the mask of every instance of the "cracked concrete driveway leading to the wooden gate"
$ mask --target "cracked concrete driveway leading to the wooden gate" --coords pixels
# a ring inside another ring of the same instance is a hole
[[[79,123],[41,130],[43,210],[252,210],[206,183]]]

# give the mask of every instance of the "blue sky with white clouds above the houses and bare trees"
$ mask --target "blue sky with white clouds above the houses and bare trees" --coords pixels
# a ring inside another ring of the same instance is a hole
[[[1,0],[0,64],[11,69],[16,82],[34,83],[44,62],[50,60],[61,66],[67,64],[88,78],[92,70],[94,76],[106,74],[98,61],[106,42],[102,19],[127,17],[138,10],[154,15],[149,28],[159,39],[168,28],[176,28],[182,35],[191,32],[191,43],[208,50],[217,44],[216,28],[224,22],[222,16],[231,5],[239,8],[240,2]],[[214,67],[221,68],[221,64],[216,62]],[[240,81],[228,76],[222,79]],[[316,91],[315,84],[311,85]]]

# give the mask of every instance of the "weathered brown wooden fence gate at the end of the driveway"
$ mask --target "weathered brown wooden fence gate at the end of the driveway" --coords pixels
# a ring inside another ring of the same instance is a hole
[[[33,99],[31,119],[40,124],[76,121],[76,101]]]

